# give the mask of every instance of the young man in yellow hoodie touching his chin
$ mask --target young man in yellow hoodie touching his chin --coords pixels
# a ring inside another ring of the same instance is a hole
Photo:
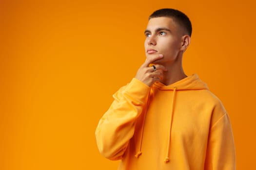
[[[235,170],[232,127],[207,85],[182,68],[189,18],[160,9],[145,31],[146,61],[99,120],[100,153],[118,170]]]

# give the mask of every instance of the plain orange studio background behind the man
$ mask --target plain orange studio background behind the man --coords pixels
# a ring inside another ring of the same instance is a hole
[[[252,169],[255,6],[253,0],[1,0],[0,170],[116,170],[118,161],[98,153],[95,129],[112,94],[145,60],[148,16],[165,7],[190,17],[184,70],[223,102],[237,170]]]

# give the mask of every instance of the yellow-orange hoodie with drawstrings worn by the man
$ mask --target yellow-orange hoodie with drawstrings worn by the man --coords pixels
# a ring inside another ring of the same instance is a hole
[[[113,97],[96,139],[118,170],[236,169],[229,116],[197,74],[151,87],[134,78]]]

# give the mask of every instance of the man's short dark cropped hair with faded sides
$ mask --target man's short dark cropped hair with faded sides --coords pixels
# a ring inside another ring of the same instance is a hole
[[[192,34],[192,24],[189,20],[189,18],[182,13],[181,11],[178,11],[176,9],[172,8],[163,8],[155,11],[153,14],[149,16],[149,19],[154,17],[171,17],[174,22],[179,24],[184,30],[191,36]]]

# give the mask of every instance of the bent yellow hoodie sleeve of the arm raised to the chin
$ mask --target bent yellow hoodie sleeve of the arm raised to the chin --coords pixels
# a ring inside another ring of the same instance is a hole
[[[111,160],[122,158],[149,91],[148,85],[133,78],[113,95],[114,102],[99,120],[95,132],[98,150],[104,157]]]

